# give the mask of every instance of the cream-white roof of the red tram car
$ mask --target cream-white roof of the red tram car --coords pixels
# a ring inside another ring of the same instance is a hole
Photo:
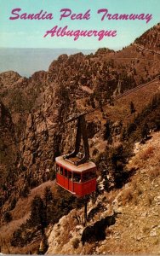
[[[61,155],[55,158],[55,161],[58,165],[65,167],[67,170],[71,172],[86,172],[90,169],[96,168],[94,162],[86,162],[82,165],[76,166],[74,165],[74,161],[79,160],[79,159],[71,159],[71,160],[66,160],[64,159],[65,155]]]

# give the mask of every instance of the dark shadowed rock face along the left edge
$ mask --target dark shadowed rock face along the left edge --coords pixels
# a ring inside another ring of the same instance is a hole
[[[8,108],[0,102],[0,207],[9,199],[17,178],[18,148]]]

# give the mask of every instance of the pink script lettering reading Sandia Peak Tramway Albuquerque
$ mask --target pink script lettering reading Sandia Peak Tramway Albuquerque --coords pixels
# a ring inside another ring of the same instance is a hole
[[[60,9],[60,16],[59,16],[59,22],[61,20],[66,20],[74,22],[75,20],[90,20],[94,15],[98,15],[100,18],[100,22],[107,22],[108,20],[141,20],[148,23],[152,19],[151,14],[111,14],[108,9],[98,9],[96,14],[92,12],[91,9],[86,10],[83,13],[75,13],[71,9]],[[13,9],[11,11],[11,16],[9,17],[9,20],[54,20],[54,14],[48,13],[47,11],[40,10],[36,14],[28,14],[24,12],[22,9],[17,8]],[[77,23],[79,24],[79,23]],[[87,24],[87,23],[86,23]],[[106,24],[106,23],[105,23]],[[117,36],[117,30],[111,30],[108,27],[102,30],[96,30],[94,28],[89,27],[89,29],[86,27],[72,30],[68,25],[66,26],[60,26],[53,24],[51,26],[51,29],[47,30],[43,38],[46,37],[70,37],[73,38],[74,41],[77,41],[79,38],[90,38],[95,37],[98,38],[98,40],[102,40],[103,38],[115,38]]]

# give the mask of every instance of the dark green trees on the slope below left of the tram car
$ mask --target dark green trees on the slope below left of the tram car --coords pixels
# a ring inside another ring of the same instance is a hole
[[[63,196],[61,196],[63,194]],[[44,230],[49,224],[55,224],[59,219],[71,211],[72,208],[83,206],[83,199],[77,199],[64,189],[58,188],[53,193],[49,187],[44,191],[43,198],[35,196],[31,203],[30,218],[14,231],[12,246],[24,247],[40,232],[44,239]],[[32,232],[31,232],[32,230]]]

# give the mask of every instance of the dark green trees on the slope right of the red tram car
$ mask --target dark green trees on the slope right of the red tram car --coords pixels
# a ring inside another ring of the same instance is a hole
[[[133,110],[134,103],[130,106]],[[112,184],[114,188],[122,187],[133,174],[133,172],[128,172],[126,164],[132,155],[134,143],[136,141],[145,143],[151,130],[160,130],[160,94],[153,97],[146,108],[134,117],[133,122],[126,126],[121,125],[122,122],[119,124],[121,144],[115,147],[112,139],[115,129],[113,129],[111,120],[106,121],[104,139],[107,140],[108,146],[106,152],[99,154],[95,160],[101,176],[106,179],[106,190],[111,189]],[[107,178],[107,173],[110,173],[110,180]]]

